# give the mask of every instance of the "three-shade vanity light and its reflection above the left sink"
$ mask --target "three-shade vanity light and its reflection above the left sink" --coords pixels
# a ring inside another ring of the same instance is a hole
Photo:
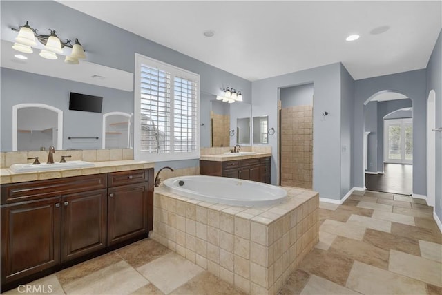
[[[79,59],[86,58],[83,46],[81,46],[77,38],[75,38],[75,44],[71,44],[69,39],[66,39],[65,42],[60,41],[55,30],[50,29],[50,35],[39,35],[37,29],[33,29],[29,26],[28,21],[26,21],[24,26],[20,26],[19,29],[12,28],[12,30],[19,32],[12,48],[21,53],[33,53],[34,51],[31,46],[37,46],[37,42],[35,41],[35,39],[37,39],[44,45],[39,55],[45,59],[57,59],[57,53],[63,53],[64,47],[72,48],[70,55],[64,59],[66,64],[79,64]]]

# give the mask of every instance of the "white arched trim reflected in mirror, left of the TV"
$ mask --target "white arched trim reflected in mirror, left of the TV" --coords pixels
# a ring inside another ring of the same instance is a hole
[[[18,111],[20,108],[46,108],[57,113],[57,146],[55,149],[63,149],[63,111],[48,104],[15,104],[12,106],[12,151],[17,151],[17,126]]]

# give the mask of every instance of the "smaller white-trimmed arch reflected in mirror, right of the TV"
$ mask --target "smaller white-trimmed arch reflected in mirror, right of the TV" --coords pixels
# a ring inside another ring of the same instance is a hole
[[[132,115],[111,112],[103,115],[103,149],[132,148]]]

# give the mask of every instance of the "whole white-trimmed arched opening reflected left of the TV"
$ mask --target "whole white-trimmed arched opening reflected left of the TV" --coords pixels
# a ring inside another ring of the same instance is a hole
[[[63,111],[47,104],[12,106],[12,151],[63,149]]]

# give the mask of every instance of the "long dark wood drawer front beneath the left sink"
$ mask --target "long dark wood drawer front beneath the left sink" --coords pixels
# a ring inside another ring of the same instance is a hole
[[[1,204],[106,189],[106,187],[106,174],[4,184],[1,186]]]

